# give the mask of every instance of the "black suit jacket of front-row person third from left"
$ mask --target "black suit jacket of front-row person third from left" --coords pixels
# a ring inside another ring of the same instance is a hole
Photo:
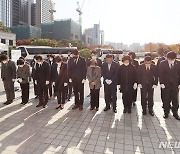
[[[42,66],[36,66],[34,79],[37,80],[38,83],[45,84],[46,81],[50,81],[50,76],[51,69],[48,62],[44,61]]]

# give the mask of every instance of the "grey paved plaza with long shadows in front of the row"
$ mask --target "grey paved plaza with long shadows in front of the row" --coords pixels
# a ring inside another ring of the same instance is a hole
[[[89,94],[86,83],[85,96]],[[103,88],[100,110],[90,111],[89,98],[84,110],[71,110],[73,98],[64,110],[55,110],[56,100],[48,107],[36,108],[31,85],[30,101],[21,106],[21,92],[15,102],[4,106],[5,93],[0,82],[0,153],[1,154],[179,154],[180,148],[159,148],[160,142],[180,140],[180,122],[172,115],[163,119],[160,90],[155,90],[155,116],[142,116],[139,92],[132,114],[123,114],[118,92],[118,113],[104,112]]]

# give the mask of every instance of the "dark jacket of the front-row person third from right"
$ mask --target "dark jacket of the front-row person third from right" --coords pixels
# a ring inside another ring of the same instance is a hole
[[[119,67],[119,84],[121,85],[121,92],[134,91],[134,83],[137,83],[135,66],[132,64],[129,66],[121,65]]]

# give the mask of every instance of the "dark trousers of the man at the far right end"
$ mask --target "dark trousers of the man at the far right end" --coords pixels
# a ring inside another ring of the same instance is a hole
[[[162,90],[163,92],[163,108],[165,114],[169,114],[170,109],[172,109],[173,114],[177,114],[179,109],[179,89],[171,87],[166,87]],[[172,107],[171,107],[172,102]]]

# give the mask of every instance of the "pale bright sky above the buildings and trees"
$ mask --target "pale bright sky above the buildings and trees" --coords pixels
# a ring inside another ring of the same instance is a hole
[[[78,22],[77,1],[54,0],[55,19]],[[82,12],[83,29],[100,22],[105,41],[180,43],[180,0],[85,0]]]

